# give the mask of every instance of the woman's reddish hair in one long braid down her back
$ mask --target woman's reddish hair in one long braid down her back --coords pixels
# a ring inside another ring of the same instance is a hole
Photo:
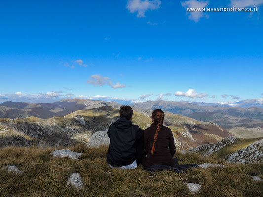
[[[157,130],[156,130],[155,135],[154,135],[153,146],[151,148],[151,155],[153,155],[153,153],[155,151],[155,143],[157,141],[158,133],[161,130],[161,127],[163,126],[164,113],[161,109],[154,109],[152,112],[151,118],[153,120],[153,123],[155,125],[157,125]]]

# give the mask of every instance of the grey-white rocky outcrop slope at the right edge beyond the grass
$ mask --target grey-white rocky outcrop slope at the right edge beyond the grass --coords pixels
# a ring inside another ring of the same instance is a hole
[[[251,163],[263,161],[263,139],[251,143],[248,147],[238,149],[226,158],[232,163]]]

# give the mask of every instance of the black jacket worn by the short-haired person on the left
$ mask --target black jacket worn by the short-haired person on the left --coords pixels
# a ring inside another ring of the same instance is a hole
[[[136,141],[143,141],[144,131],[122,117],[111,124],[107,134],[110,138],[107,162],[113,167],[132,164],[136,159]]]

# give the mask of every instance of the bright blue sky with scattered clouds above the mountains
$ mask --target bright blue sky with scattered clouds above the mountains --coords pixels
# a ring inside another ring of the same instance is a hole
[[[187,13],[186,7],[258,7]],[[0,102],[263,97],[263,0],[0,2]]]

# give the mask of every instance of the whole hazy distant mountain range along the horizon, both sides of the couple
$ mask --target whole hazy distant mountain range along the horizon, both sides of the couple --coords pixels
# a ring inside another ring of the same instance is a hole
[[[245,100],[247,103],[256,101]],[[172,114],[178,114],[199,120],[202,122],[216,123],[226,128],[231,134],[238,137],[263,136],[263,108],[258,107],[232,107],[230,105],[203,102],[169,102],[147,101],[132,104],[132,108],[144,115],[151,115],[155,108],[161,108]],[[25,103],[7,101],[0,104],[0,118],[26,118],[30,116],[47,119],[52,117],[64,117],[76,110],[86,110],[102,106],[119,108],[121,105],[111,101],[89,99],[62,99],[54,103]]]

